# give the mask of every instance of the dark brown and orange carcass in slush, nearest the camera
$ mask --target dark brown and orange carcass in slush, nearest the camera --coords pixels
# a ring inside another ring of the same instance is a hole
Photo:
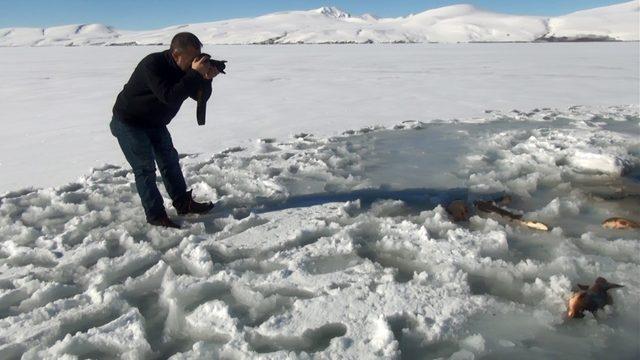
[[[591,285],[578,284],[578,291],[574,292],[569,299],[569,308],[567,317],[569,319],[584,317],[584,311],[590,311],[594,316],[598,309],[603,309],[605,305],[611,305],[613,299],[607,293],[607,290],[624,287],[618,284],[612,284],[605,278],[599,277],[596,282]]]

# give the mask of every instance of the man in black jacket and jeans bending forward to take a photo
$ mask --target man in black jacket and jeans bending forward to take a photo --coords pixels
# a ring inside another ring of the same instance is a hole
[[[211,202],[196,202],[191,190],[187,191],[178,152],[167,130],[187,97],[195,100],[199,90],[204,101],[211,96],[211,80],[218,70],[207,56],[199,58],[201,48],[194,34],[176,34],[169,50],[140,61],[113,106],[111,133],[133,169],[147,222],[152,225],[180,228],[165,211],[156,186],[154,160],[178,214],[205,213],[213,208]]]

